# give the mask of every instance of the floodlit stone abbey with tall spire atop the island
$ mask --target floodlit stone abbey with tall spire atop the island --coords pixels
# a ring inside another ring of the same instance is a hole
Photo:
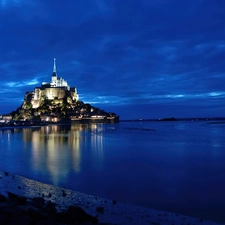
[[[33,92],[27,92],[24,100],[32,104],[32,108],[38,108],[43,99],[62,100],[65,96],[70,96],[72,100],[77,101],[79,96],[75,87],[70,87],[62,77],[59,78],[56,72],[56,59],[54,58],[53,74],[51,82],[43,82],[41,87],[34,88]]]

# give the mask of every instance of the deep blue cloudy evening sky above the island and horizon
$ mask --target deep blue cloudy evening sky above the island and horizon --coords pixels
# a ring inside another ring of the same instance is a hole
[[[0,0],[0,114],[58,76],[121,119],[225,116],[224,0]]]

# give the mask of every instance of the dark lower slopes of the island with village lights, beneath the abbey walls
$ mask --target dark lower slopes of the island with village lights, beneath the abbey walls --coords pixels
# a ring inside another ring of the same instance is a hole
[[[76,101],[70,97],[63,99],[41,100],[39,107],[33,108],[29,100],[10,113],[14,121],[76,121],[76,122],[119,122],[119,116],[113,112],[105,112],[88,103]]]

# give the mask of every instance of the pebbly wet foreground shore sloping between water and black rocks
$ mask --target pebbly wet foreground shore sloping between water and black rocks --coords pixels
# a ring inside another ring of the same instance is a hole
[[[45,201],[56,204],[58,212],[68,206],[81,207],[86,213],[98,218],[99,224],[117,225],[222,225],[214,221],[193,218],[181,214],[144,208],[136,205],[117,202],[98,196],[72,191],[41,183],[12,173],[0,171],[0,194],[8,192],[26,198],[43,197]]]

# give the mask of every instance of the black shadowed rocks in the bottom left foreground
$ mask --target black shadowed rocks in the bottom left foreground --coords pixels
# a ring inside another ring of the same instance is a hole
[[[0,224],[98,224],[98,219],[79,206],[58,212],[54,203],[42,197],[30,199],[8,192],[8,196],[0,194]]]

